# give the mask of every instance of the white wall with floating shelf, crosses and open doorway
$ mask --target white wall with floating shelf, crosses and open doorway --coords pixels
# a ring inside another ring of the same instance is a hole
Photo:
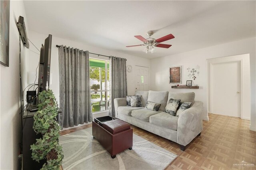
[[[171,50],[171,49],[170,49]],[[204,119],[207,117],[207,69],[206,59],[224,57],[239,54],[250,54],[251,72],[251,129],[256,126],[256,38],[249,38],[236,42],[224,43],[203,49],[197,49],[184,53],[159,57],[151,60],[151,89],[156,91],[192,92],[196,93],[196,100],[204,102]],[[182,84],[186,84],[188,78],[188,67],[200,66],[199,75],[196,74],[194,84],[200,86],[199,89],[171,89],[169,84],[169,67],[182,65]],[[220,82],[221,83],[221,82]]]

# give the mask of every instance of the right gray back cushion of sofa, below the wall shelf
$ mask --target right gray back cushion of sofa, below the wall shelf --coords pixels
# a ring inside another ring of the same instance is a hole
[[[175,92],[169,92],[168,94],[168,101],[170,99],[180,99],[180,102],[191,102],[194,103],[195,101],[195,93],[194,92],[188,92],[188,93],[175,93]]]

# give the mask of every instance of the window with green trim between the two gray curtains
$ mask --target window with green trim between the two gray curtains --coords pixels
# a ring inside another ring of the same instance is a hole
[[[109,61],[90,58],[92,113],[108,110]]]

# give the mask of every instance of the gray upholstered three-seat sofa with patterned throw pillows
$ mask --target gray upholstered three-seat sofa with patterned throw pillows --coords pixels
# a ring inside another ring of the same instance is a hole
[[[174,93],[168,91],[136,91],[142,96],[143,107],[126,106],[126,98],[114,99],[116,117],[127,123],[162,136],[180,144],[185,150],[203,130],[201,101],[194,101],[195,93]],[[180,113],[179,117],[163,112],[167,101],[181,99],[181,102],[192,102],[189,109]],[[159,111],[144,109],[146,102],[161,103]]]

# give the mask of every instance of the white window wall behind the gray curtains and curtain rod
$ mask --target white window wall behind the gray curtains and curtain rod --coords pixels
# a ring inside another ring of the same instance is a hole
[[[49,34],[51,34],[49,32]],[[48,35],[39,34],[37,32],[30,31],[29,39],[36,45],[38,49],[40,49],[41,44],[44,43],[45,38]],[[50,89],[53,90],[56,99],[59,103],[59,65],[58,65],[58,47],[56,45],[66,45],[74,48],[88,50],[91,53],[98,53],[102,55],[114,55],[116,57],[122,57],[127,59],[127,65],[132,65],[135,68],[135,65],[140,65],[144,67],[150,67],[150,60],[145,59],[142,57],[136,57],[133,55],[128,55],[124,53],[118,53],[116,51],[110,51],[107,49],[101,49],[98,47],[93,47],[90,45],[86,45],[79,42],[74,42],[71,40],[65,40],[62,38],[57,38],[52,35],[52,53],[51,53],[51,69],[50,73],[52,73],[52,84],[50,85]],[[36,53],[39,53],[35,47],[30,45],[30,49]],[[29,58],[28,58],[28,71],[34,72],[36,70],[36,66],[39,61],[39,55],[29,51]],[[97,55],[90,54],[90,57],[97,57]],[[38,71],[37,71],[38,72]],[[135,93],[135,72],[134,70],[131,73],[127,73],[127,85],[128,85],[128,95],[132,95]]]

